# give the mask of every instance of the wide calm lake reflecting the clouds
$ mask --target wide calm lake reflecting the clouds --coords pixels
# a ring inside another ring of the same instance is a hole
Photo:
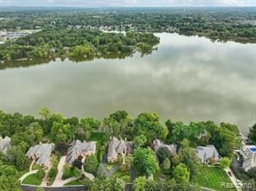
[[[256,46],[197,36],[157,34],[158,50],[125,60],[55,60],[0,70],[0,110],[66,116],[132,117],[156,111],[162,120],[256,123]]]

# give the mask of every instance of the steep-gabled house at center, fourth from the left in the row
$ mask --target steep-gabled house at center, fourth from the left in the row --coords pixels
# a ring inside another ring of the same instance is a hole
[[[118,140],[116,137],[111,137],[108,143],[107,161],[117,162],[118,155],[122,156],[123,163],[125,163],[125,156],[132,153],[132,143],[126,141],[126,139]]]

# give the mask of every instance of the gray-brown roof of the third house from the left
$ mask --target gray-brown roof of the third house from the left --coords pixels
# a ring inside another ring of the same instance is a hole
[[[81,142],[76,140],[67,150],[67,163],[73,164],[74,160],[79,156],[83,156],[86,152],[94,152],[96,150],[96,142]]]

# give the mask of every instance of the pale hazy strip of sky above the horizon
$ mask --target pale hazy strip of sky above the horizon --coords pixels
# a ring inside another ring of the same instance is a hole
[[[256,6],[256,0],[0,0],[0,6],[176,7]]]

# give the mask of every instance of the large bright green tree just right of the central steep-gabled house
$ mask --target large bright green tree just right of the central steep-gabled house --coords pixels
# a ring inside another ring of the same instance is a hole
[[[150,176],[159,170],[157,158],[150,149],[137,149],[133,154],[133,165],[139,175]]]

